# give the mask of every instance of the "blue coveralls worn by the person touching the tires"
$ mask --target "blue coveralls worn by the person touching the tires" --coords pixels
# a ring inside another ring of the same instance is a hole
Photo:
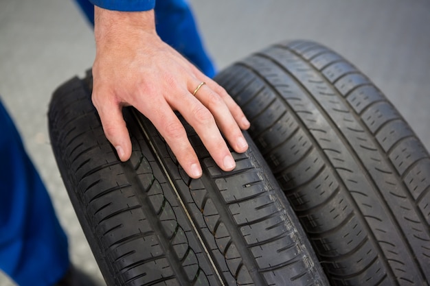
[[[186,0],[76,0],[93,23],[93,5],[109,10],[155,7],[157,32],[206,75],[215,73]],[[54,285],[69,267],[67,237],[41,178],[0,101],[0,269],[19,285]]]

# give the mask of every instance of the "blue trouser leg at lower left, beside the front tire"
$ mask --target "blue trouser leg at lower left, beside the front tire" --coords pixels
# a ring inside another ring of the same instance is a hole
[[[0,269],[18,285],[54,285],[69,267],[67,238],[0,102]]]

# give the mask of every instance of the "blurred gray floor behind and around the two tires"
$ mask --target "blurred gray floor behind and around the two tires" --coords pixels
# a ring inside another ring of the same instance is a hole
[[[191,3],[219,68],[281,40],[316,40],[368,75],[430,149],[430,1]],[[93,56],[92,30],[73,1],[0,0],[1,98],[52,195],[71,259],[102,282],[60,179],[46,118],[54,89],[83,75]],[[0,285],[12,283],[0,274]]]

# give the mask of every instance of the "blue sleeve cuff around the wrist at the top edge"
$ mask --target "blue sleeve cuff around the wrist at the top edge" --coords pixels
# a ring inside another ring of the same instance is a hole
[[[107,10],[136,12],[154,9],[155,0],[89,0],[93,5]]]

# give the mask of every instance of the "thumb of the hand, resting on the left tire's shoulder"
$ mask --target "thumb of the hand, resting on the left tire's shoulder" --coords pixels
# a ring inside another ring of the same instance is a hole
[[[96,102],[93,100],[100,121],[102,121],[104,135],[115,147],[120,160],[123,162],[128,160],[131,156],[131,140],[126,121],[122,116],[122,106],[106,101],[103,104],[97,104]]]

